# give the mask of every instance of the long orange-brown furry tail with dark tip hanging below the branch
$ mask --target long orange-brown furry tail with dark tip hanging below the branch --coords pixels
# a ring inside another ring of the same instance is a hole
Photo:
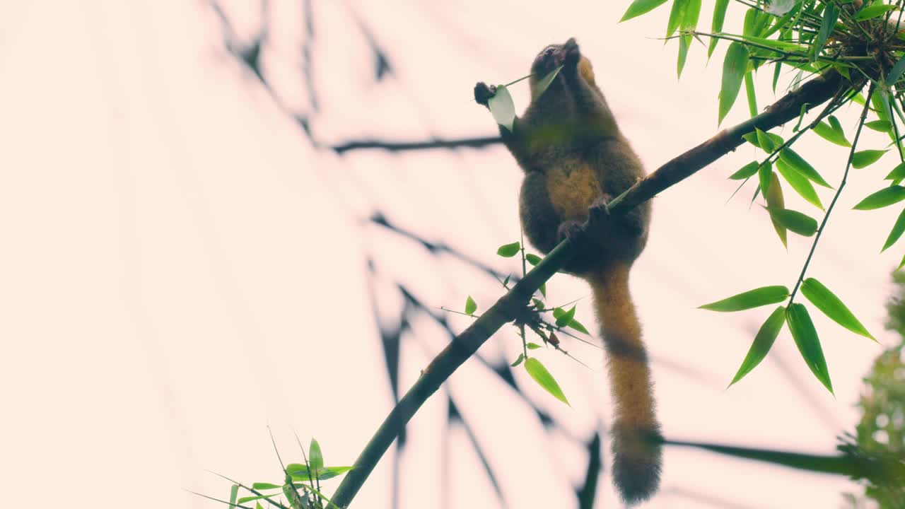
[[[613,478],[628,504],[643,501],[660,485],[661,435],[641,323],[628,290],[628,264],[587,276],[609,361],[615,400]]]

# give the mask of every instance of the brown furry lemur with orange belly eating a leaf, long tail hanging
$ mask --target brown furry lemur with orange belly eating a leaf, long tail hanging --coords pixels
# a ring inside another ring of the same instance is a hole
[[[560,65],[548,88],[539,90],[538,82]],[[576,255],[563,272],[585,279],[594,294],[615,400],[614,483],[633,504],[657,490],[662,465],[651,371],[628,284],[647,243],[651,206],[610,216],[607,202],[645,173],[574,38],[538,53],[529,84],[528,109],[511,131],[500,126],[503,143],[525,171],[521,226],[544,254],[566,237],[576,242]],[[495,93],[483,82],[474,87],[475,101],[484,106]]]

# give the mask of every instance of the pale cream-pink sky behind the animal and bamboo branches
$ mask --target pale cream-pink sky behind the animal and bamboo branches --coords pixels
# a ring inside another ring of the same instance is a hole
[[[725,46],[708,63],[695,44],[677,80],[677,46],[657,39],[665,6],[617,24],[626,2],[324,1],[313,2],[310,18],[301,4],[271,2],[262,53],[271,89],[224,47],[224,37],[252,40],[263,21],[257,2],[222,4],[233,34],[202,2],[0,5],[5,504],[215,507],[185,491],[228,496],[229,484],[205,469],[279,481],[268,426],[288,460],[300,461],[294,432],[317,437],[329,465],[352,464],[392,406],[377,326],[398,320],[399,285],[438,314],[461,309],[467,295],[479,312],[500,296],[488,275],[367,217],[379,212],[517,272],[495,252],[519,238],[521,174],[501,146],[341,155],[330,146],[493,135],[491,115],[472,101],[474,82],[515,80],[541,48],[570,36],[649,170],[718,130]],[[740,30],[736,7],[730,31]],[[711,11],[705,2],[700,27]],[[310,80],[300,52],[307,22]],[[389,63],[381,80],[372,44]],[[757,76],[761,107],[774,99],[771,76]],[[793,77],[783,75],[777,96]],[[527,85],[513,92],[523,109]],[[287,112],[309,120],[311,137]],[[839,112],[850,139],[858,113]],[[747,114],[739,101],[724,125]],[[862,139],[864,149],[886,144],[873,132]],[[813,134],[795,149],[838,184],[846,149]],[[835,397],[786,331],[757,370],[725,389],[772,308],[695,309],[760,285],[791,286],[801,270],[811,239],[790,234],[786,250],[766,212],[749,206],[753,183],[727,203],[737,183],[726,177],[757,157],[743,146],[654,199],[632,289],[660,420],[673,439],[831,454],[857,422],[860,380],[881,346],[812,309]],[[896,340],[882,329],[883,303],[902,248],[878,252],[899,211],[851,209],[895,164],[888,154],[852,171],[808,271],[885,345]],[[818,192],[828,204],[832,191]],[[790,190],[786,204],[819,213]],[[586,325],[588,293],[569,276],[548,283],[552,303],[582,299],[576,316]],[[470,322],[449,321],[456,331]],[[405,389],[449,338],[415,313],[402,340]],[[572,437],[586,439],[609,415],[600,351],[566,348],[591,369],[553,351],[538,358],[572,408],[515,371],[519,388],[562,426],[555,432],[477,360],[443,389],[472,424],[510,507],[574,506],[586,456]],[[481,355],[514,360],[519,350],[507,327]],[[440,394],[409,429],[400,507],[443,506],[438,493],[449,494],[445,507],[498,507],[462,428],[452,429],[441,469]],[[382,462],[356,505],[389,507],[391,473]],[[608,476],[600,489],[598,507],[620,506]],[[859,488],[668,447],[661,493],[643,507],[835,507],[846,490]]]

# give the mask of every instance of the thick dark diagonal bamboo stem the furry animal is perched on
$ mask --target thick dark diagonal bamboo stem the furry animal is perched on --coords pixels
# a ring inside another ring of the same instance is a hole
[[[746,120],[729,130],[720,131],[716,136],[658,168],[651,175],[640,180],[622,196],[610,202],[610,213],[622,215],[656,196],[667,187],[691,177],[695,172],[728,154],[744,143],[742,135],[759,128],[770,130],[798,117],[802,108],[811,110],[829,101],[841,88],[848,86],[843,77],[835,71],[828,71],[806,82],[776,101],[763,113]],[[522,312],[540,285],[561,269],[575,255],[576,245],[570,239],[557,245],[534,269],[516,283],[509,293],[494,303],[481,318],[472,322],[424,370],[421,378],[414,383],[405,396],[386,416],[377,428],[374,437],[358,456],[355,467],[348,472],[333,495],[333,502],[346,508],[357,495],[358,490],[371,474],[377,461],[386,453],[395,437],[405,428],[414,413],[424,401],[440,388],[444,380],[459,368],[465,360],[478,350],[484,341],[498,331],[505,323],[511,322]]]

